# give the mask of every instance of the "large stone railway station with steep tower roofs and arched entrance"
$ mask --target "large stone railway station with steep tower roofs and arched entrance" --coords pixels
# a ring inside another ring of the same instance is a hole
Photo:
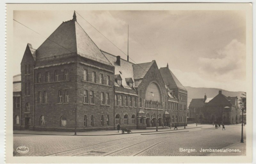
[[[168,64],[158,69],[155,60],[136,64],[100,50],[75,13],[37,49],[28,43],[20,70],[20,88],[13,92],[15,130],[187,124],[187,90]]]

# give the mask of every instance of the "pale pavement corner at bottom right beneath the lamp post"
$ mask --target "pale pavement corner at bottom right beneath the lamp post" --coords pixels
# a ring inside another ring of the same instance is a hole
[[[237,142],[235,144],[224,147],[223,149],[229,150],[238,150],[238,152],[214,152],[209,153],[206,156],[245,156],[246,155],[246,139],[244,139],[244,143]]]

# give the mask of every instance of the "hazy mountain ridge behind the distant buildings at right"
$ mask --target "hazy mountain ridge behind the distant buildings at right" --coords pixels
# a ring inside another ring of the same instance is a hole
[[[206,94],[207,98],[213,98],[217,94],[219,94],[219,90],[222,90],[222,94],[224,94],[227,97],[237,96],[238,99],[242,96],[242,93],[244,93],[244,92],[231,92],[231,91],[226,91],[218,88],[194,88],[190,86],[185,86],[185,88],[188,91],[188,106],[192,99],[203,99],[204,94]]]

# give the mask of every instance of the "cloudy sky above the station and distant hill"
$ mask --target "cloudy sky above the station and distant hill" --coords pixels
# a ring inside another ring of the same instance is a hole
[[[183,86],[246,91],[244,11],[76,12],[77,22],[101,50],[126,59],[129,25],[131,62],[156,60],[158,68],[168,63]],[[27,43],[37,49],[73,13],[14,11],[13,19],[36,32],[13,22],[13,75],[20,73]]]

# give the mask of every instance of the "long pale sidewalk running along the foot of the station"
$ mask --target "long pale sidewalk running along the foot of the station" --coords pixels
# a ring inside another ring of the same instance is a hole
[[[207,125],[204,127],[208,127]],[[158,132],[163,132],[163,131],[174,131],[173,130],[174,127],[172,127],[172,129],[158,129]],[[194,128],[198,128],[201,129],[202,126],[201,125],[188,125],[186,126],[186,129],[184,129],[184,127],[180,126],[178,127],[178,130],[175,131],[182,131],[182,130],[187,130],[187,129],[194,129]],[[139,130],[139,129],[132,129],[132,133],[150,133],[150,132],[156,132],[155,129],[148,129],[148,130]],[[130,133],[130,134],[132,134]],[[60,132],[60,131],[30,131],[30,130],[13,130],[13,134],[36,134],[36,135],[67,135],[67,136],[71,136],[74,135],[74,132]],[[97,130],[97,131],[84,131],[84,132],[76,132],[76,136],[105,136],[105,135],[120,135],[122,134],[122,130],[119,130],[119,133],[117,132],[117,130]],[[126,134],[126,132],[125,132]]]

